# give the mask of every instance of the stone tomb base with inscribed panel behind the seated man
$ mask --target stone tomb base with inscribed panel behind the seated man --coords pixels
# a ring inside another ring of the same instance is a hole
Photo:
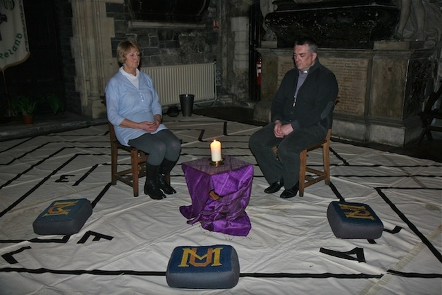
[[[339,103],[333,137],[354,142],[405,146],[421,133],[418,113],[437,77],[436,53],[415,42],[383,41],[373,50],[318,50],[336,75]],[[282,77],[294,62],[291,48],[258,48],[262,55],[262,101],[254,119],[270,121],[270,106]]]

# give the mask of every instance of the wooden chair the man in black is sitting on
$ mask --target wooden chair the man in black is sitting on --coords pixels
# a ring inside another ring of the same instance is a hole
[[[301,158],[301,165],[299,169],[299,196],[304,196],[304,189],[325,180],[325,184],[330,184],[330,136],[332,135],[332,129],[329,129],[327,136],[323,142],[315,144],[314,146],[309,146],[304,151],[300,152],[299,156]],[[313,169],[307,166],[307,153],[313,151],[314,149],[323,149],[323,171],[318,169]],[[307,175],[307,172],[311,175]]]

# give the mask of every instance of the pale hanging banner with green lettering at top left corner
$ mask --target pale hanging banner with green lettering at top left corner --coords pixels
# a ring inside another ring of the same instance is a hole
[[[29,57],[23,0],[0,0],[0,71]]]

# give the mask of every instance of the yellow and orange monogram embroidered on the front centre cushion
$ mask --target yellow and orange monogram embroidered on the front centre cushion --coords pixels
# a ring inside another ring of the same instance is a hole
[[[183,248],[183,254],[181,258],[181,263],[178,267],[206,267],[211,266],[221,266],[220,257],[222,247],[208,248],[206,254],[198,255],[197,247]]]

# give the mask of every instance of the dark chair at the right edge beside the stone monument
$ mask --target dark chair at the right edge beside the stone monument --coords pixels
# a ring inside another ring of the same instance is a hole
[[[434,119],[442,119],[442,113],[441,110],[438,108],[433,108],[434,104],[436,104],[437,100],[441,98],[442,96],[442,84],[439,87],[439,90],[437,92],[433,92],[428,97],[427,103],[425,104],[425,108],[421,113],[419,113],[419,117],[421,117],[422,121],[422,132],[419,136],[419,140],[417,144],[421,144],[421,141],[423,140],[423,137],[427,135],[427,139],[432,141],[433,136],[431,135],[431,131],[439,131],[442,132],[442,126],[435,126],[432,125],[432,122]]]

